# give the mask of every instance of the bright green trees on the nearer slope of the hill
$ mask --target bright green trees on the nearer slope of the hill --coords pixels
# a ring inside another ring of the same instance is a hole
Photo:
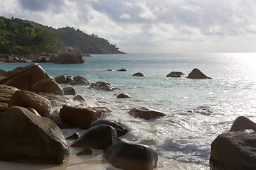
[[[53,31],[35,28],[31,22],[0,17],[0,53],[58,52],[61,42]]]

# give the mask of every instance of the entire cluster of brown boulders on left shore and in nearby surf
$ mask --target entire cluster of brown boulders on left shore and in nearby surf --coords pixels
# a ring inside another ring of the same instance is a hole
[[[73,87],[62,88],[60,84],[103,91],[116,89],[102,81],[90,83],[81,76],[53,78],[37,63],[9,72],[0,69],[1,161],[62,164],[69,158],[70,147],[82,147],[77,156],[102,149],[103,157],[120,169],[156,168],[158,155],[154,149],[122,141],[120,137],[128,130],[114,120],[101,119],[112,112],[109,108],[70,106],[70,101],[84,103],[85,98],[75,96]],[[117,98],[129,95],[122,93]],[[145,120],[165,115],[147,108],[133,108],[129,114]],[[61,128],[86,131],[82,136],[75,133],[65,139]],[[74,141],[69,146],[67,140]]]

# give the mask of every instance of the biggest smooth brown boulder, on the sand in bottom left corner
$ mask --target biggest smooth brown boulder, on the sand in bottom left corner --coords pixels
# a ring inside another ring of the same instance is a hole
[[[0,160],[6,162],[62,164],[69,157],[57,125],[18,106],[0,113],[0,145]]]

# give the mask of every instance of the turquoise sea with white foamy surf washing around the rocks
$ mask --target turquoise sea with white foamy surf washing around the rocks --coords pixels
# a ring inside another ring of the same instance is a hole
[[[124,125],[122,140],[153,147],[161,157],[208,166],[210,144],[228,132],[239,115],[256,121],[256,54],[126,54],[92,55],[83,64],[40,63],[52,77],[80,75],[90,82],[105,81],[117,91],[93,91],[73,86],[87,106],[112,110],[103,118]],[[9,71],[28,64],[0,63]],[[117,69],[127,72],[117,72]],[[213,79],[167,78],[170,72],[186,76],[198,68]],[[112,69],[113,71],[107,71]],[[132,77],[142,72],[144,77]],[[70,85],[62,85],[70,86]],[[126,92],[131,98],[117,98]],[[132,118],[131,108],[146,107],[166,116]]]

